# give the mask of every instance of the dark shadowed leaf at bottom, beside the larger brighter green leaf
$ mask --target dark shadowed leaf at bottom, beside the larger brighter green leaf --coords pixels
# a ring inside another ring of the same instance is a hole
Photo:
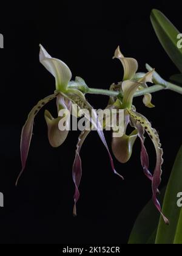
[[[163,201],[164,192],[165,188],[159,196],[160,201]],[[129,244],[154,244],[159,219],[160,215],[158,215],[151,199],[136,219],[130,234]]]

